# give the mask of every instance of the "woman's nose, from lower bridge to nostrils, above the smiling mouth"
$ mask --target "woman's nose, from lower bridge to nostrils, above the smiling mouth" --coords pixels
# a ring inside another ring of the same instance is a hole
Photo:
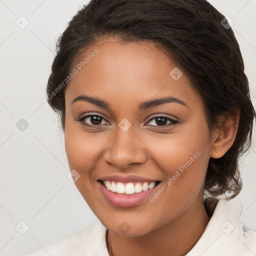
[[[146,161],[146,146],[131,128],[127,131],[118,128],[110,141],[103,155],[106,162],[118,168],[128,168],[132,163]]]

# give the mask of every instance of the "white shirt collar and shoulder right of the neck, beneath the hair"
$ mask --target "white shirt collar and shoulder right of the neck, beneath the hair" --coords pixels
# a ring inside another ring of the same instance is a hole
[[[237,219],[226,202],[218,200],[203,234],[186,256],[256,255],[256,230]]]

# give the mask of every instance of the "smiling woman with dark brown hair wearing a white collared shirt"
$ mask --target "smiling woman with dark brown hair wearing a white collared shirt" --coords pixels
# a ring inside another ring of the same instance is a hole
[[[58,40],[47,100],[99,220],[29,255],[256,254],[225,204],[255,111],[238,43],[206,0],[91,0]]]

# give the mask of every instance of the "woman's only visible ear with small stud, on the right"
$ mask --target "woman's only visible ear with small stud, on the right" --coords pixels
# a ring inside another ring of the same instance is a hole
[[[220,158],[233,144],[240,117],[239,109],[236,108],[234,112],[220,117],[220,127],[213,131],[210,157]]]

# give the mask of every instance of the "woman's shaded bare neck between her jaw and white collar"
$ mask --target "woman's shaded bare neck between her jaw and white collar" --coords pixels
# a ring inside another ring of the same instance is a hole
[[[108,231],[109,255],[185,255],[199,240],[209,219],[203,202],[196,198],[177,218],[145,235],[121,237]]]

